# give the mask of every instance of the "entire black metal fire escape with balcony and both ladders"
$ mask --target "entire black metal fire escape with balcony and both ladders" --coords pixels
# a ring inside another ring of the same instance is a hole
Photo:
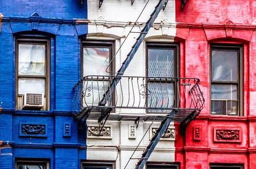
[[[186,1],[183,2],[183,8]],[[100,6],[103,1],[100,1]],[[73,110],[80,127],[87,119],[99,122],[99,135],[107,120],[161,121],[156,134],[145,148],[135,169],[142,169],[163,136],[170,122],[179,122],[184,131],[204,107],[200,80],[196,78],[170,78],[147,76],[124,76],[127,66],[143,42],[161,9],[168,0],[160,0],[145,27],[132,46],[121,68],[113,76],[85,76],[73,87]],[[147,115],[118,114],[123,109],[145,109]],[[154,112],[159,115],[150,115]],[[142,138],[143,139],[143,138]],[[132,158],[130,158],[132,159]]]

